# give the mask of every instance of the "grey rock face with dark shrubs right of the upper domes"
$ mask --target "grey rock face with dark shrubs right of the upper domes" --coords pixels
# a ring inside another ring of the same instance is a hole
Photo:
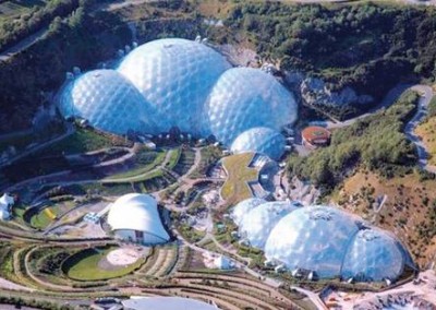
[[[310,106],[364,106],[374,102],[372,96],[358,95],[351,87],[332,92],[323,80],[307,78],[302,72],[286,72],[284,79],[300,94],[303,103]]]

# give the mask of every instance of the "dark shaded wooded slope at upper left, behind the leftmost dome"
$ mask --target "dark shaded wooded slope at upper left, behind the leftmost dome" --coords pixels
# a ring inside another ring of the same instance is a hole
[[[47,15],[47,20],[52,19],[47,34],[26,52],[0,63],[0,132],[29,128],[33,116],[47,99],[44,94],[59,90],[65,72],[74,65],[89,69],[111,59],[120,47],[131,43],[128,26],[117,15],[101,10],[93,12],[88,1],[72,1],[74,8],[77,4],[80,8],[64,19],[55,8],[56,13]],[[50,0],[50,3],[62,7],[71,1]],[[71,8],[65,12],[70,13]],[[46,17],[43,20],[46,23]],[[28,23],[24,25],[29,28]]]

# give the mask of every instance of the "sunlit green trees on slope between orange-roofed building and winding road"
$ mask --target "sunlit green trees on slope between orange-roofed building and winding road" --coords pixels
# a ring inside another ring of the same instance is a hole
[[[417,99],[415,92],[407,92],[387,110],[335,130],[330,146],[307,157],[291,156],[288,162],[290,175],[331,189],[347,171],[359,166],[379,170],[385,177],[410,170],[416,155],[402,130],[415,111]]]

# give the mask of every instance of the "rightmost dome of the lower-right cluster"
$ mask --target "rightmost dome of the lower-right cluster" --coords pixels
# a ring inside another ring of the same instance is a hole
[[[408,263],[402,245],[385,231],[360,230],[346,252],[341,276],[346,279],[398,278]]]

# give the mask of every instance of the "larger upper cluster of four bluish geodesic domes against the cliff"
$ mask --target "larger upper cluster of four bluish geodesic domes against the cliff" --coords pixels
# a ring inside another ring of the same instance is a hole
[[[117,134],[177,127],[274,158],[284,151],[281,128],[296,118],[292,94],[274,76],[231,68],[213,48],[179,38],[142,45],[116,70],[80,75],[63,87],[59,108]]]

